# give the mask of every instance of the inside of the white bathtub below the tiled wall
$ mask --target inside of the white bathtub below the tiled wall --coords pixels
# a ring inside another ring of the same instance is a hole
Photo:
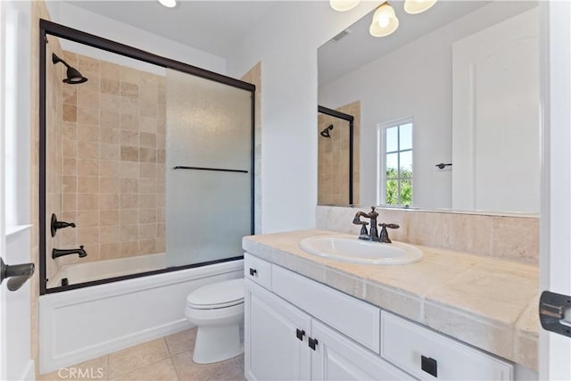
[[[153,271],[155,269],[164,269],[165,265],[165,253],[63,265],[55,276],[49,279],[47,288],[62,286],[63,278],[67,278],[70,285],[76,285],[78,283],[91,282],[108,277],[120,277],[122,275]]]

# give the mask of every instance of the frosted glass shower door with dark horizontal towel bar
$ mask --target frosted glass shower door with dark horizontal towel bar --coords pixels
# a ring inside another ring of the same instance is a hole
[[[242,255],[252,234],[249,91],[167,70],[167,266]]]

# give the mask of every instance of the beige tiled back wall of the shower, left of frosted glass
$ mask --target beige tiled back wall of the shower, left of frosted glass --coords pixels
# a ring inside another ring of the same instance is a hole
[[[64,52],[62,58],[88,81],[60,83],[58,217],[77,228],[58,231],[57,244],[83,244],[87,258],[69,255],[58,261],[164,253],[165,78],[80,54]],[[54,142],[48,147],[48,152],[54,149]]]

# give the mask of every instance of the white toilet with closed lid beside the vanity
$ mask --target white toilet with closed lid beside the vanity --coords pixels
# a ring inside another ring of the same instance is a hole
[[[194,362],[210,364],[244,352],[244,278],[197,288],[186,297],[185,315],[198,327]]]

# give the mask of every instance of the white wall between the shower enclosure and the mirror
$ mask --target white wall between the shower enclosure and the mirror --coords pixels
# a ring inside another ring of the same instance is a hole
[[[325,1],[278,3],[228,54],[230,76],[261,61],[263,233],[315,227],[317,49],[376,5],[335,12]]]

